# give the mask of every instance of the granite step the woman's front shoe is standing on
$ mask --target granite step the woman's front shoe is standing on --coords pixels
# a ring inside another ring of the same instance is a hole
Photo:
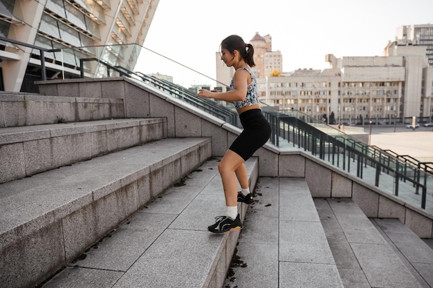
[[[218,159],[208,160],[46,282],[54,287],[222,287],[239,231],[207,227],[225,211]],[[246,162],[251,189],[258,160]],[[248,206],[238,204],[245,215]]]

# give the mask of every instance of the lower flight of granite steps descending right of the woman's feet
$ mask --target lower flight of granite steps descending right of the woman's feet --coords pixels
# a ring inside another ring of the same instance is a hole
[[[313,199],[302,178],[259,177],[256,193],[225,288],[432,287],[433,250],[398,220],[369,220],[348,198]]]

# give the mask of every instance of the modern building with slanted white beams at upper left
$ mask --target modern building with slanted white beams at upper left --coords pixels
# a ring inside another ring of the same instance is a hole
[[[48,79],[79,77],[80,58],[103,56],[133,68],[140,51],[118,44],[142,45],[157,6],[158,0],[2,0],[0,37],[16,42],[0,40],[0,90],[33,92],[41,79],[40,51],[19,43],[57,50],[44,52]],[[84,66],[89,76],[107,73]]]

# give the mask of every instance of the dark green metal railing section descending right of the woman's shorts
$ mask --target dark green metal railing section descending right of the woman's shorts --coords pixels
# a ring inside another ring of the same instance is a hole
[[[432,162],[369,146],[299,111],[263,110],[273,127],[273,144],[302,148],[368,184],[433,212]]]

